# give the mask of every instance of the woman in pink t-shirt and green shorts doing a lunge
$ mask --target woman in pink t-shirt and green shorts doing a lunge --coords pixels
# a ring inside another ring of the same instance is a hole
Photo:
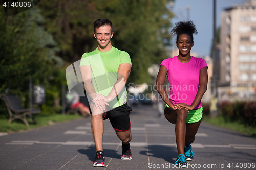
[[[156,89],[166,103],[166,119],[176,125],[178,157],[175,166],[186,168],[186,161],[194,159],[190,144],[194,142],[202,120],[201,99],[207,90],[208,66],[204,59],[190,56],[190,50],[194,45],[193,34],[197,34],[192,21],[175,23],[171,32],[177,35],[176,46],[179,55],[162,61]],[[164,89],[166,75],[170,97]]]

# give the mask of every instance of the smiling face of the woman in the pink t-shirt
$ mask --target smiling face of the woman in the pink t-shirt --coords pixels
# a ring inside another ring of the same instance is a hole
[[[178,37],[176,46],[179,48],[179,53],[181,57],[190,56],[190,50],[194,46],[194,41],[188,34],[181,34]]]

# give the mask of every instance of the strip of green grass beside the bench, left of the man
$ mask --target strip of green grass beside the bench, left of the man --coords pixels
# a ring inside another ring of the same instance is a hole
[[[28,116],[27,116],[28,117]],[[30,122],[29,118],[27,121],[29,126],[26,126],[24,122],[21,120],[14,120],[11,123],[8,123],[8,119],[0,119],[0,132],[18,132],[22,130],[33,129],[41,126],[52,125],[54,123],[65,122],[68,120],[81,118],[81,115],[62,115],[62,114],[53,114],[53,115],[44,115],[44,114],[36,114],[33,115],[36,120],[36,124]]]

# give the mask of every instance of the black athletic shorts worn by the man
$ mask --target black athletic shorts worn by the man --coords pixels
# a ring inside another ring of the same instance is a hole
[[[106,108],[108,110],[107,106]],[[90,107],[89,109],[90,113],[92,114]],[[125,103],[122,106],[116,107],[112,110],[105,112],[103,120],[110,119],[110,123],[115,130],[125,132],[131,128],[129,116],[131,111],[132,108],[129,107],[127,103]]]

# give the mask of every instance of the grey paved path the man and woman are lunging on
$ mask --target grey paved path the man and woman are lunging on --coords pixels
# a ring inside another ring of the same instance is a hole
[[[133,107],[130,118],[130,161],[120,159],[121,142],[104,120],[105,167],[92,167],[90,119],[82,118],[0,136],[0,169],[173,169],[175,126],[152,107]],[[192,146],[195,160],[188,169],[256,169],[256,139],[202,123]]]

